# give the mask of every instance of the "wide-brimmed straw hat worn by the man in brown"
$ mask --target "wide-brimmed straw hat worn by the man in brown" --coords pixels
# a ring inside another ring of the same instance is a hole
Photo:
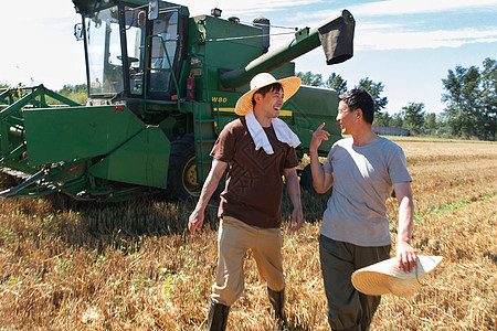
[[[302,81],[296,76],[276,81],[276,78],[268,73],[261,73],[255,75],[251,81],[251,90],[242,95],[240,99],[236,102],[235,106],[236,115],[244,116],[251,108],[253,108],[252,96],[254,95],[254,93],[256,93],[257,89],[274,83],[282,84],[283,92],[285,93],[283,103],[285,103],[297,92],[297,89],[300,87]]]

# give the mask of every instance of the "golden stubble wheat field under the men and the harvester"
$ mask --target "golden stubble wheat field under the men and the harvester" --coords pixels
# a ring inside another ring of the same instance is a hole
[[[384,296],[371,330],[496,330],[497,143],[394,138],[413,177],[419,254],[441,265],[413,297]],[[0,188],[14,184],[0,175]],[[329,194],[303,192],[306,220],[288,232],[283,200],[290,330],[329,330],[319,268]],[[194,236],[193,203],[0,200],[0,330],[204,330],[216,267],[216,204]],[[392,238],[396,201],[388,201]],[[394,254],[394,249],[392,249]],[[245,290],[229,330],[277,330],[265,284],[245,259]]]

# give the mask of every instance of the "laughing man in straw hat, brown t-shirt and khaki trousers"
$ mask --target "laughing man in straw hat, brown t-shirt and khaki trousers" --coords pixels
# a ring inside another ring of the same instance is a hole
[[[209,307],[209,330],[226,327],[230,306],[244,288],[243,257],[247,249],[252,249],[258,273],[267,284],[275,318],[285,321],[279,228],[283,175],[294,205],[292,231],[300,228],[304,218],[295,152],[300,141],[277,117],[299,86],[298,77],[276,81],[267,73],[256,75],[251,81],[251,90],[236,103],[235,113],[244,117],[228,124],[212,149],[211,171],[188,222],[191,233],[200,229],[205,206],[229,167],[218,212],[219,260]]]

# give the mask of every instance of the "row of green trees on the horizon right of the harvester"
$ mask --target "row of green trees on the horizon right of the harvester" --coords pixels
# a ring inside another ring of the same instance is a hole
[[[332,73],[326,81],[321,74],[297,73],[303,84],[334,88],[345,93],[347,81]],[[446,103],[442,114],[426,113],[424,103],[408,103],[399,113],[383,111],[388,98],[382,96],[384,85],[369,77],[359,81],[353,88],[366,89],[374,100],[376,126],[398,127],[413,135],[496,139],[497,127],[497,61],[485,58],[483,67],[456,66],[448,70],[442,79],[445,93],[441,98]]]

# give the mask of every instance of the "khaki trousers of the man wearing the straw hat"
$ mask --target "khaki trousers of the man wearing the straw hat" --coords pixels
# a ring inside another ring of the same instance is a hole
[[[212,286],[212,300],[233,305],[244,289],[243,257],[252,249],[258,274],[274,291],[285,288],[279,228],[261,228],[233,217],[221,220],[218,236],[218,274]]]

